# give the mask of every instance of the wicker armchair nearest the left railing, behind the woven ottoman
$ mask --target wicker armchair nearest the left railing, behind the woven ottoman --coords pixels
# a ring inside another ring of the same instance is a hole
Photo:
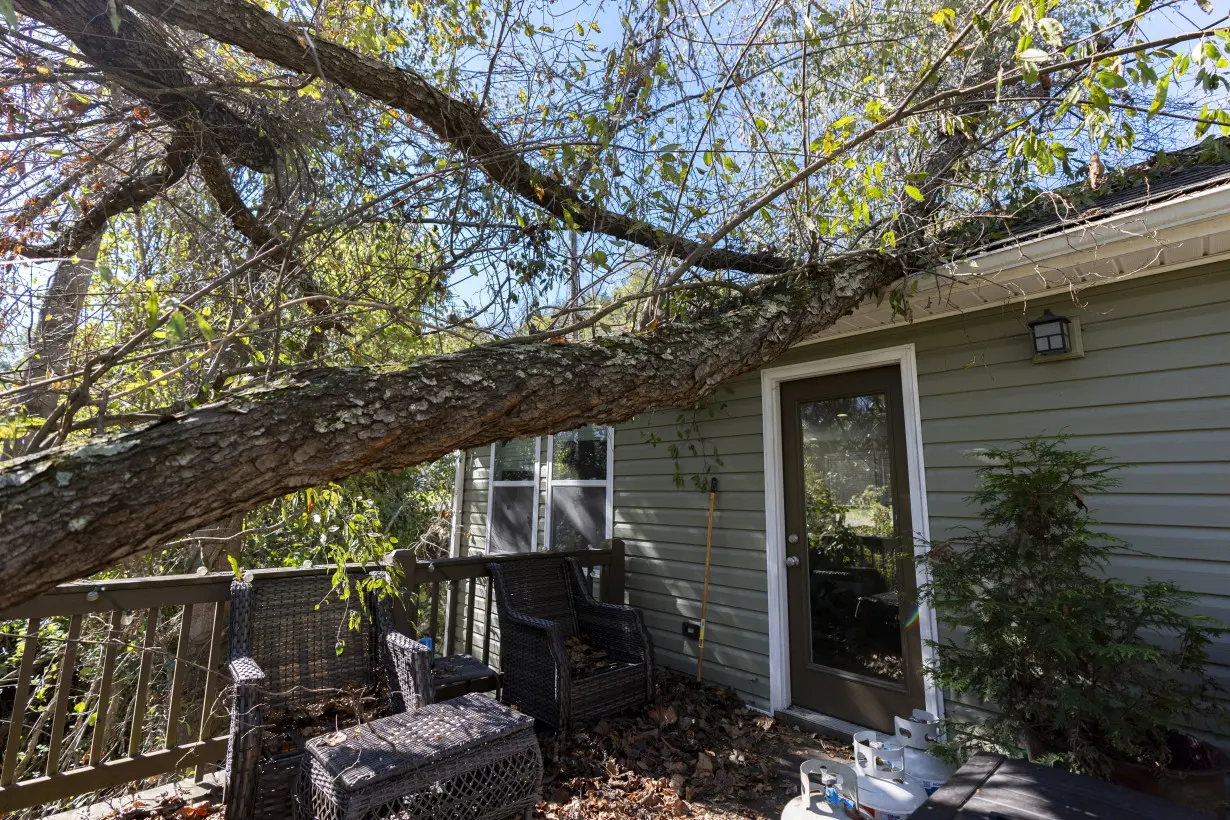
[[[395,711],[430,700],[427,647],[396,632],[385,632],[385,641],[378,642],[367,613],[358,631],[348,629],[357,605],[337,600],[331,590],[328,575],[231,584],[234,700],[225,798],[230,820],[290,816],[303,749],[264,749],[264,725],[274,713],[381,677]],[[386,611],[386,604],[378,604],[376,611]],[[344,641],[341,653],[338,639]]]

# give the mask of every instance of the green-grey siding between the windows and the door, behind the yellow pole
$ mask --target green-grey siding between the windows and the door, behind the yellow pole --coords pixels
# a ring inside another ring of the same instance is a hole
[[[694,476],[718,479],[705,677],[768,708],[759,375],[723,385],[699,411],[645,413],[615,432],[614,535],[627,548],[627,599],[645,612],[658,663],[686,672],[696,671],[696,643],[683,625],[700,621],[708,521],[708,493]]]

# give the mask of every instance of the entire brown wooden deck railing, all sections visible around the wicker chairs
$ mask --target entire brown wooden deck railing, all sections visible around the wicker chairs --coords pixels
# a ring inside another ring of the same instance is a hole
[[[621,541],[547,554],[574,557],[601,600],[624,601]],[[437,654],[477,653],[498,669],[486,566],[517,557],[524,556],[422,561],[405,550],[391,553],[386,561],[402,579],[400,628],[430,636]],[[332,572],[251,574],[260,583]],[[15,661],[0,679],[0,816],[189,768],[200,776],[225,757],[232,579],[77,581],[0,612],[0,660]]]

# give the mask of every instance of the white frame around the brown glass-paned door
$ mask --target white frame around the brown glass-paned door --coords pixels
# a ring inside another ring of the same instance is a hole
[[[905,416],[905,460],[910,479],[910,529],[914,552],[922,554],[931,540],[926,507],[926,476],[922,470],[922,424],[919,414],[918,363],[914,345],[867,350],[851,355],[804,361],[760,371],[760,412],[764,423],[765,449],[765,542],[769,562],[769,706],[772,711],[791,706],[790,693],[790,621],[786,607],[786,504],[782,488],[781,451],[781,384],[835,373],[866,370],[884,365],[902,370],[902,411]],[[918,569],[918,583],[927,581],[925,567]],[[935,611],[930,604],[919,606],[919,631],[922,641],[922,663],[935,663],[935,650],[927,645],[936,637]],[[926,709],[943,717],[940,688],[925,680]]]

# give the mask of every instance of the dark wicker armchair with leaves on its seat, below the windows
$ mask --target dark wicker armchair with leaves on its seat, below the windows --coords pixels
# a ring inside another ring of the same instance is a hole
[[[571,558],[487,564],[499,612],[502,700],[563,729],[653,698],[653,644],[631,606],[599,604]],[[566,639],[608,653],[614,666],[578,676]]]

